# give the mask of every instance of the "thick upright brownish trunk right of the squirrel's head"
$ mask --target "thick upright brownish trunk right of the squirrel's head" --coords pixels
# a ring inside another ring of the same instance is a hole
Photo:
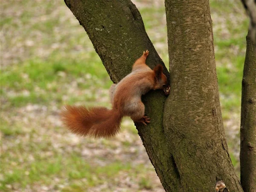
[[[166,143],[176,165],[172,191],[214,191],[223,180],[242,191],[224,134],[208,0],[166,0],[171,92]]]

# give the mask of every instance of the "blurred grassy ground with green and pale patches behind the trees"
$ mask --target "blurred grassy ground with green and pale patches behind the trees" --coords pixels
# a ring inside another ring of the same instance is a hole
[[[133,2],[168,66],[164,0]],[[64,1],[3,0],[0,6],[1,191],[163,192],[130,119],[109,140],[78,137],[61,125],[64,104],[110,107],[112,84]],[[239,175],[248,20],[240,0],[210,0],[210,9],[225,133]]]

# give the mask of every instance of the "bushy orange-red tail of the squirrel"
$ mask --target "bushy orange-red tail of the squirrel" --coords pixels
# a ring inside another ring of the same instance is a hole
[[[66,105],[61,116],[64,125],[73,133],[96,138],[115,136],[122,121],[119,111],[105,107],[88,110],[84,106]]]

